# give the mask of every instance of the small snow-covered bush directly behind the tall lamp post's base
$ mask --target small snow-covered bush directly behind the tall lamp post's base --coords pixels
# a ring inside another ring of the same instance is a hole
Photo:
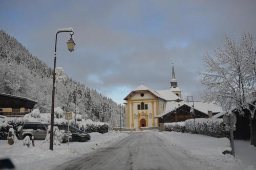
[[[51,126],[49,125],[47,128],[47,134],[46,139],[42,142],[50,142],[50,132],[51,132]],[[65,130],[59,130],[58,127],[53,127],[53,144],[54,145],[60,145],[62,143],[63,137],[65,136]]]

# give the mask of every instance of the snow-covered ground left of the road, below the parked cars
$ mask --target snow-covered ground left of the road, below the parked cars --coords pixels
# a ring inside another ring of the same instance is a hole
[[[62,143],[49,150],[49,143],[41,144],[42,140],[35,141],[35,147],[23,146],[23,140],[9,145],[7,140],[0,140],[0,159],[11,158],[17,169],[50,169],[56,164],[67,162],[83,154],[108,147],[111,143],[122,139],[129,134],[109,132],[105,134],[90,133],[91,141]]]

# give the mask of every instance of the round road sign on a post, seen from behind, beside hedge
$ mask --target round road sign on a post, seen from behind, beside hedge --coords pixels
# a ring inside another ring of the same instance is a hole
[[[234,156],[234,136],[233,131],[236,130],[236,123],[237,123],[237,117],[236,114],[234,114],[231,111],[228,111],[223,115],[223,122],[226,125],[225,130],[230,131],[230,140],[231,140],[231,155]]]

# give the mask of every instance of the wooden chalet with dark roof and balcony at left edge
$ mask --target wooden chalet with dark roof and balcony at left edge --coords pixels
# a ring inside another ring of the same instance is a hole
[[[0,115],[7,117],[23,117],[30,113],[37,104],[28,98],[0,93]]]

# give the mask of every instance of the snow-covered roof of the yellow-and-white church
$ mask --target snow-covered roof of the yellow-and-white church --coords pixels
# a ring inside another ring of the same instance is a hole
[[[152,94],[154,94],[156,97],[161,98],[165,101],[175,101],[177,99],[182,100],[179,96],[177,96],[176,94],[174,94],[172,91],[170,90],[152,90],[151,88],[148,88],[145,85],[140,85],[137,88],[135,88],[131,93],[129,93],[124,100],[127,100],[130,95],[134,92],[138,92],[138,91],[148,91],[151,92]]]

